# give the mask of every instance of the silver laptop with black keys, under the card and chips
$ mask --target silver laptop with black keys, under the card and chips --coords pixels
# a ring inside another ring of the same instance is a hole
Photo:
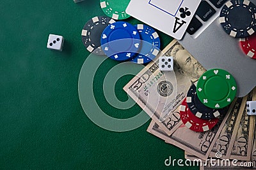
[[[256,0],[250,1],[256,4]],[[219,16],[226,2],[202,0],[178,41],[207,70],[222,68],[230,72],[237,82],[237,97],[244,97],[256,86],[256,60],[243,53],[239,38],[227,35],[221,27]]]

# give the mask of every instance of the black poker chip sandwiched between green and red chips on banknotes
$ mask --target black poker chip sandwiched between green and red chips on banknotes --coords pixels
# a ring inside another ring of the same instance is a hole
[[[193,84],[188,90],[187,104],[189,110],[198,118],[210,120],[220,116],[220,111],[207,107],[200,102],[196,95],[196,84]]]

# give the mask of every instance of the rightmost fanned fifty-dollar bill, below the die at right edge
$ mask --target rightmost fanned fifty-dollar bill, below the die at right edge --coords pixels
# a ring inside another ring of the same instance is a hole
[[[252,101],[253,91],[247,96],[247,101]],[[238,126],[236,137],[234,137],[234,145],[230,149],[230,159],[237,160],[250,160],[252,153],[252,139],[253,139],[253,127],[254,127],[254,116],[248,116],[246,113],[247,105],[243,108],[243,114],[241,120],[237,120],[240,123],[236,123]],[[240,112],[239,112],[240,114]],[[232,140],[231,140],[232,142]]]

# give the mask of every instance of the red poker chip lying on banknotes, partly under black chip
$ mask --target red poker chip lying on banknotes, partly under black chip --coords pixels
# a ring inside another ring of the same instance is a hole
[[[180,120],[184,123],[186,127],[195,132],[205,132],[211,130],[219,121],[218,118],[211,120],[203,120],[197,118],[188,108],[186,98],[180,105]]]

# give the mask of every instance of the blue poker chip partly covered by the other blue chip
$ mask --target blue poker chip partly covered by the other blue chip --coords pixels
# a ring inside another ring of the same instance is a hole
[[[140,53],[136,54],[130,61],[138,64],[149,63],[152,59],[156,58],[159,53],[160,38],[156,31],[150,26],[138,24],[134,27],[139,31],[142,42]]]

